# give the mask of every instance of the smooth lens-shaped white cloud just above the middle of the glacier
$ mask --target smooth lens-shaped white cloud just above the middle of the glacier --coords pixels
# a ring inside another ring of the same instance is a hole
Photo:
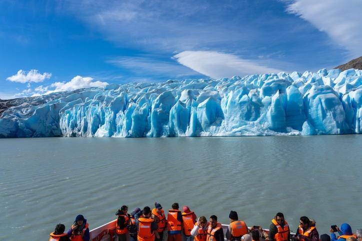
[[[211,78],[232,77],[261,73],[277,73],[255,60],[241,59],[233,54],[215,51],[183,51],[173,56],[177,61]]]

